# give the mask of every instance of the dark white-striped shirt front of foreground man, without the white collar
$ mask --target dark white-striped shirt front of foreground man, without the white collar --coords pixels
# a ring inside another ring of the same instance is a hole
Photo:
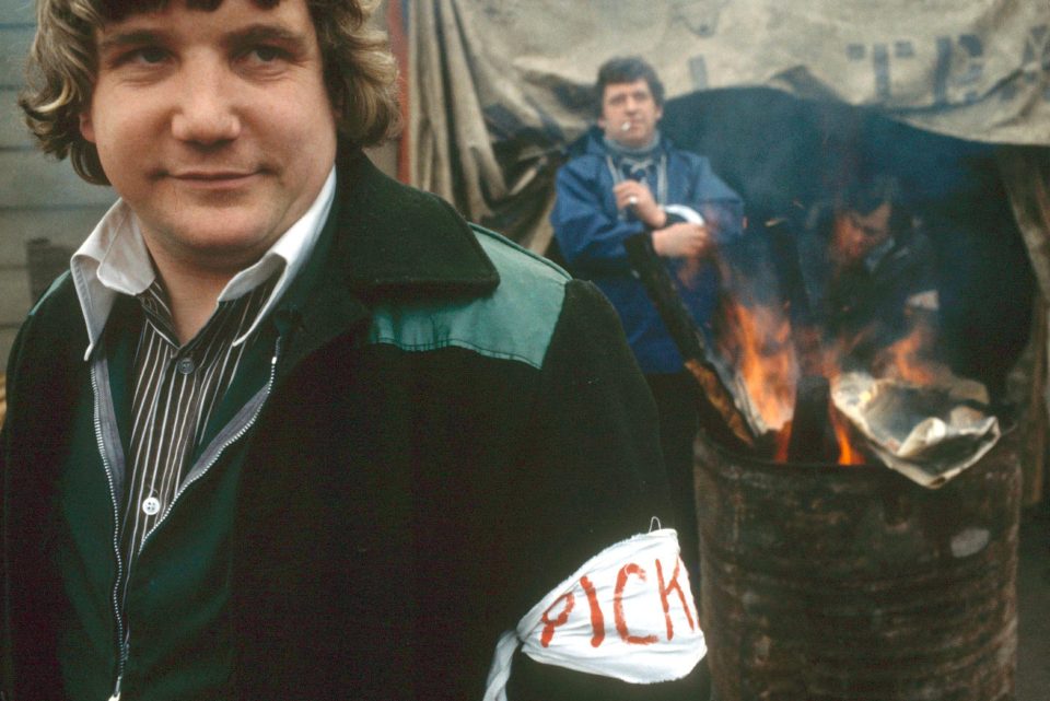
[[[138,295],[144,322],[135,354],[129,479],[120,527],[128,575],[143,541],[186,487],[190,458],[252,343],[250,338],[234,341],[256,327],[279,277],[220,302],[203,328],[182,347],[160,281]]]

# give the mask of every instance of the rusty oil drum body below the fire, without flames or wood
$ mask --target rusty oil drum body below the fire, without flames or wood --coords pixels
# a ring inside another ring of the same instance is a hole
[[[700,618],[719,701],[1013,699],[1015,435],[938,490],[701,435]]]

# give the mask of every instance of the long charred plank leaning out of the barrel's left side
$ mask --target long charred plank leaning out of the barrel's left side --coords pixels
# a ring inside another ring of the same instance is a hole
[[[732,434],[748,447],[754,447],[756,436],[737,407],[733,393],[722,382],[710,360],[707,341],[675,289],[667,268],[653,249],[652,237],[648,233],[635,234],[629,236],[623,246],[631,267],[681,353],[686,369],[700,384],[707,400]]]

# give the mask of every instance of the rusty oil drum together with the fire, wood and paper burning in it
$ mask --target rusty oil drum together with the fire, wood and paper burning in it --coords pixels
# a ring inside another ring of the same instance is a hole
[[[1015,447],[984,387],[936,361],[920,233],[885,210],[825,213],[806,232],[771,223],[769,266],[723,265],[713,332],[632,252],[715,386],[696,490],[718,698],[1005,701]]]

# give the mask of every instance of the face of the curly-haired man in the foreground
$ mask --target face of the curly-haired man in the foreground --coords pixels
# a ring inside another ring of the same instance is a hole
[[[305,0],[182,0],[96,33],[81,132],[159,265],[235,272],[308,208],[336,121]]]

